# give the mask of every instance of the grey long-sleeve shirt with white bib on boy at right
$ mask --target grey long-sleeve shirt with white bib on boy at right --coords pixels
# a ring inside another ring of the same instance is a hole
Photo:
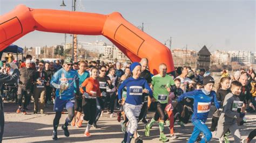
[[[232,93],[227,94],[223,103],[224,110],[220,115],[218,124],[235,124],[237,118],[239,118],[237,109],[241,109],[243,103],[244,102],[240,101],[238,96],[235,96]]]

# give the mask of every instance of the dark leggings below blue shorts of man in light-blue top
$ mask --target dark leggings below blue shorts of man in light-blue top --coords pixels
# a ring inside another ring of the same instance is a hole
[[[68,111],[68,117],[66,117],[66,121],[65,121],[65,124],[66,122],[70,123],[71,120],[73,119],[73,117],[75,116],[75,110],[74,108],[68,108],[66,109]],[[53,130],[57,132],[57,128],[58,128],[58,125],[59,125],[59,119],[60,117],[62,117],[62,112],[56,112],[55,113],[55,118],[53,119]]]

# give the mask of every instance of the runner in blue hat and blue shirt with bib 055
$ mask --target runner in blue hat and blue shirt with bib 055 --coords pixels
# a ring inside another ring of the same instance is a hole
[[[142,66],[138,62],[132,63],[130,70],[132,71],[132,77],[127,78],[118,88],[118,103],[122,103],[122,91],[126,87],[127,95],[124,103],[124,112],[129,119],[127,130],[122,142],[131,142],[134,132],[138,127],[138,120],[140,110],[142,108],[142,95],[143,92],[150,94],[152,97],[152,91],[144,78],[140,77]]]

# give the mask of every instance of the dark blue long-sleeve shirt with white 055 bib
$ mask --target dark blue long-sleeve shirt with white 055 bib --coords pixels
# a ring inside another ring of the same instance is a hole
[[[149,84],[147,84],[147,81],[142,77],[137,79],[133,77],[127,78],[118,88],[118,99],[122,99],[122,91],[125,87],[127,88],[125,103],[132,105],[142,104],[142,94],[144,88],[149,90],[150,97],[153,97],[153,92],[150,89]]]

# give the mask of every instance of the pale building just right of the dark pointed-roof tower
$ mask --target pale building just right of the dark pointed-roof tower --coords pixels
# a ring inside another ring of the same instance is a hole
[[[213,61],[218,65],[221,65],[221,64],[230,65],[231,63],[231,56],[229,53],[225,51],[219,51],[219,50],[214,51],[212,53],[212,58],[213,58]]]

